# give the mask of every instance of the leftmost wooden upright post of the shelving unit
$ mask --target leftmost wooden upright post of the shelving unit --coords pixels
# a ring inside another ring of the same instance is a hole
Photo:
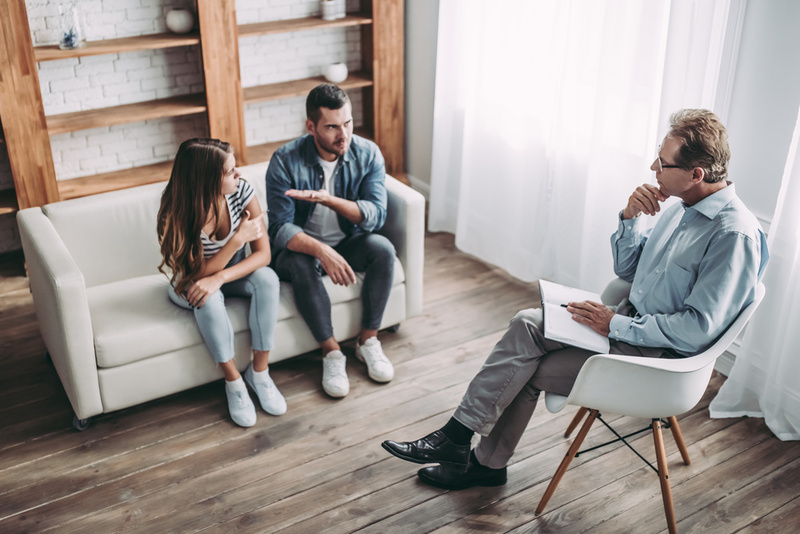
[[[25,0],[0,0],[0,117],[19,209],[59,200]]]

